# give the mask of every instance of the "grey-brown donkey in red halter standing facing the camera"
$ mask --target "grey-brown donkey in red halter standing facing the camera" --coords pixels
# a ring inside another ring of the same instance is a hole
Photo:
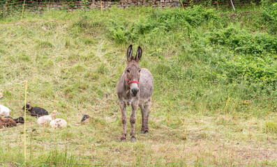
[[[142,111],[142,134],[149,132],[149,109],[151,105],[151,96],[153,94],[154,81],[151,72],[139,65],[142,58],[142,48],[137,48],[137,54],[133,57],[132,45],[127,50],[127,66],[122,72],[119,82],[117,83],[117,96],[119,97],[119,105],[121,109],[121,119],[123,132],[121,141],[126,141],[126,104],[132,106],[132,114],[130,116],[130,138],[135,141],[135,114],[137,106]]]

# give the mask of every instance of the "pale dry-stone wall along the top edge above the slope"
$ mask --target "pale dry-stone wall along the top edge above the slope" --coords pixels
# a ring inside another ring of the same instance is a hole
[[[101,8],[100,0],[89,2],[89,8]],[[117,8],[129,8],[130,6],[152,6],[154,8],[178,7],[179,0],[119,0],[119,1],[102,1],[102,8],[105,10],[115,6]]]

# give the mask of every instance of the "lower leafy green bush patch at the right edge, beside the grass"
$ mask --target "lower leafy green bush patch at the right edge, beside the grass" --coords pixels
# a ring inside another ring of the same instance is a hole
[[[277,84],[277,63],[271,54],[263,57],[238,56],[220,65],[223,71],[218,77],[225,78],[227,83],[260,83],[261,86]]]

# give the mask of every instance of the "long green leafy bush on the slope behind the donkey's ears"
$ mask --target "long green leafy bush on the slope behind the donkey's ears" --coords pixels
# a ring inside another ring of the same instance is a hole
[[[142,17],[130,26],[126,26],[124,22],[111,20],[109,35],[117,43],[126,43],[136,40],[140,35],[149,35],[157,33],[157,31],[169,32],[186,29],[187,35],[190,35],[192,27],[207,24],[210,21],[217,22],[219,18],[216,10],[202,6],[186,10],[181,8],[153,10],[151,15]]]

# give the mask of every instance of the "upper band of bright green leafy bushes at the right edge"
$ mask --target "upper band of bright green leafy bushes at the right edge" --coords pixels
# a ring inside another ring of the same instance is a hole
[[[200,38],[194,38],[194,40],[204,40],[207,45],[225,45],[244,54],[262,54],[264,51],[277,52],[276,36],[267,33],[251,34],[233,26],[207,31]]]

